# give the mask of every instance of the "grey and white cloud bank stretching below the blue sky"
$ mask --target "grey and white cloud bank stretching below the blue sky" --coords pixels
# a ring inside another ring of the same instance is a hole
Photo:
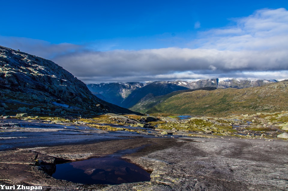
[[[73,44],[47,46],[41,42],[44,49],[35,54],[52,57],[86,84],[203,78],[287,79],[288,11],[262,9],[233,22],[229,27],[199,32],[196,40],[185,45],[196,48],[85,51]]]

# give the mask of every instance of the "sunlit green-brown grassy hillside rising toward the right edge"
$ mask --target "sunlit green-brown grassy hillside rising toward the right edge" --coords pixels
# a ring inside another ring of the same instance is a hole
[[[244,89],[199,90],[175,95],[147,113],[225,116],[288,110],[288,81]]]

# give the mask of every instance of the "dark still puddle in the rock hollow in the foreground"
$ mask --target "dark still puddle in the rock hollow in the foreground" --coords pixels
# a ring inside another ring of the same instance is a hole
[[[57,164],[52,177],[81,184],[112,185],[151,180],[144,169],[113,157]]]

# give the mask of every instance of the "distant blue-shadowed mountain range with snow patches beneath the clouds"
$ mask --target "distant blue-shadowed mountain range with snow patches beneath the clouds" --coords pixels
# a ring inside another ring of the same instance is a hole
[[[210,87],[211,89],[209,90],[217,88],[241,89],[246,87],[259,87],[265,84],[275,82],[277,82],[277,80],[251,81],[251,80],[237,80],[233,78],[224,81],[219,81],[218,78],[215,78],[215,79],[203,79],[192,82],[179,81],[179,80],[153,81],[146,83],[114,82],[114,83],[88,84],[87,87],[98,98],[119,105],[121,107],[145,113],[146,111],[149,110],[150,106],[154,105],[155,103],[158,103],[159,101],[163,101],[162,98],[166,98],[167,96],[170,95],[179,94],[181,92],[180,90],[187,90],[187,92],[189,92],[190,90],[200,90],[201,88],[205,87]],[[151,103],[149,103],[148,100],[151,100],[154,104],[151,105]]]

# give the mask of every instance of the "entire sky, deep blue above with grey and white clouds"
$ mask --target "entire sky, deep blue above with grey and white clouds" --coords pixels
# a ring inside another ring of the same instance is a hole
[[[85,83],[285,79],[287,9],[284,0],[1,1],[0,45],[51,59]],[[270,61],[255,63],[251,51]]]

